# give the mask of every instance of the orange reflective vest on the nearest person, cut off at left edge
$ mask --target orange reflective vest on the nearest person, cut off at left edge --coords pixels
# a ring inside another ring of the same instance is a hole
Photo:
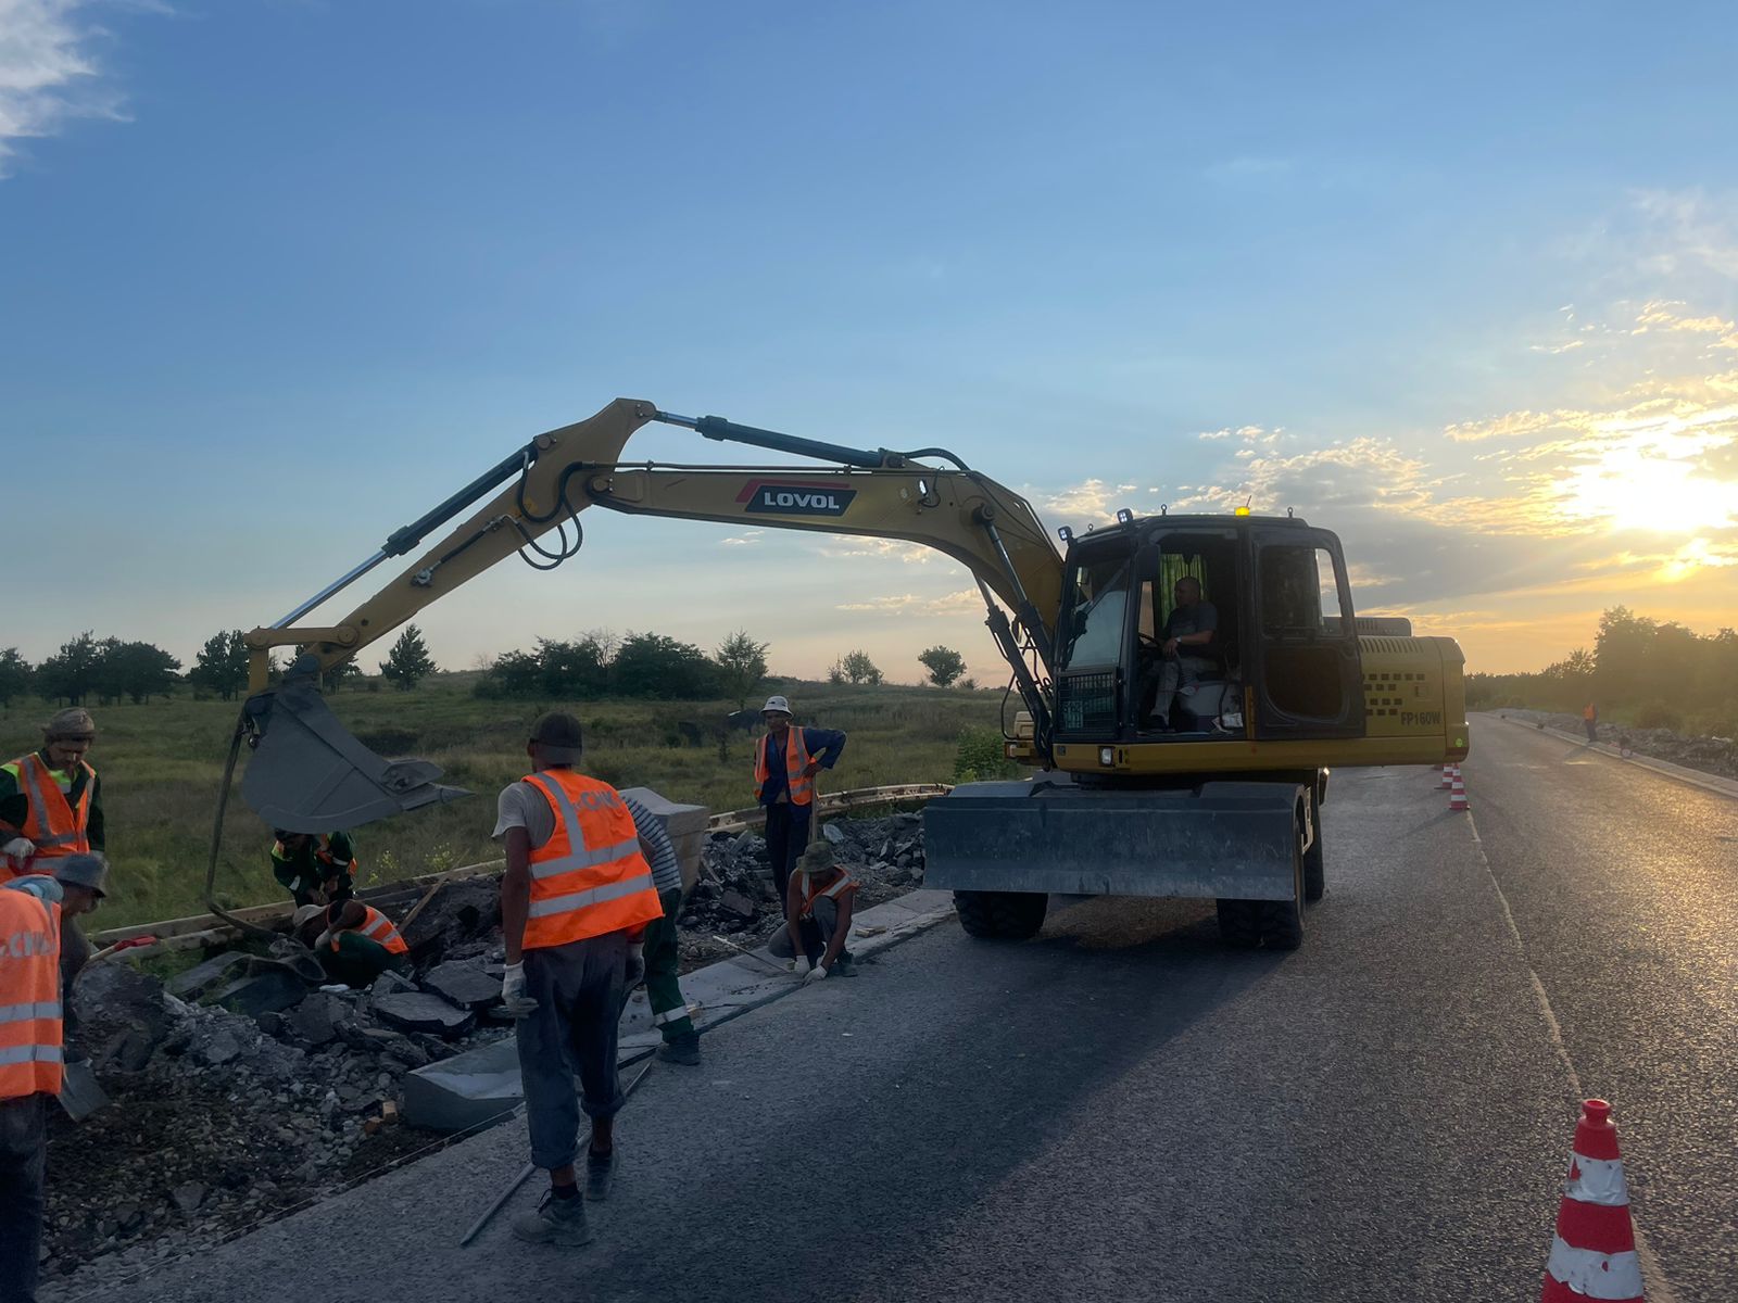
[[[61,1093],[61,907],[0,891],[0,1100]]]

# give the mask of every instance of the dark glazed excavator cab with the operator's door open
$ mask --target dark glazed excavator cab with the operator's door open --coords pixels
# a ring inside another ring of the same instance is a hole
[[[1340,540],[1295,518],[1158,516],[1072,539],[1057,622],[1058,742],[1364,731]],[[1175,634],[1210,634],[1168,650]]]

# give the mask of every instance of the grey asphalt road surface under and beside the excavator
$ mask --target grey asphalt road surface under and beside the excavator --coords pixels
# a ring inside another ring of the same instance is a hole
[[[1733,1298],[1738,803],[1474,737],[1470,818],[1422,770],[1335,775],[1297,954],[1093,900],[726,1023],[634,1096],[586,1249],[507,1216],[455,1247],[513,1126],[103,1298],[1526,1300],[1582,1091],[1649,1298]]]

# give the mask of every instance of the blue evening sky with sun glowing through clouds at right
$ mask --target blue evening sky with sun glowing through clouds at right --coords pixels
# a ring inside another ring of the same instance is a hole
[[[1738,24],[1514,9],[0,0],[0,646],[191,658],[615,396],[1291,506],[1476,669],[1735,624]],[[436,658],[999,678],[942,558],[601,514]]]

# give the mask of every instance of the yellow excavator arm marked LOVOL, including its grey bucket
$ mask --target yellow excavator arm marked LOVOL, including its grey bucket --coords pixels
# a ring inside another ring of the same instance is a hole
[[[833,466],[622,462],[627,440],[652,420]],[[386,761],[363,747],[322,702],[318,676],[507,556],[518,552],[530,565],[553,570],[579,551],[579,513],[591,506],[737,526],[897,539],[945,552],[977,579],[985,622],[1034,719],[1039,751],[1048,754],[1062,559],[1022,497],[942,448],[848,448],[720,417],[678,417],[652,403],[620,398],[587,420],[539,434],[447,502],[395,532],[374,556],[282,620],[245,636],[252,695],[238,738],[255,749],[242,789],[249,804],[275,827],[330,830],[457,794],[438,784],[440,771],[428,761]],[[389,558],[408,556],[471,507],[459,525],[445,530],[396,579],[337,624],[302,622],[341,589]],[[554,547],[547,546],[551,533]],[[1003,605],[1013,612],[1012,620]],[[283,646],[297,648],[297,657],[273,688],[271,652]]]

